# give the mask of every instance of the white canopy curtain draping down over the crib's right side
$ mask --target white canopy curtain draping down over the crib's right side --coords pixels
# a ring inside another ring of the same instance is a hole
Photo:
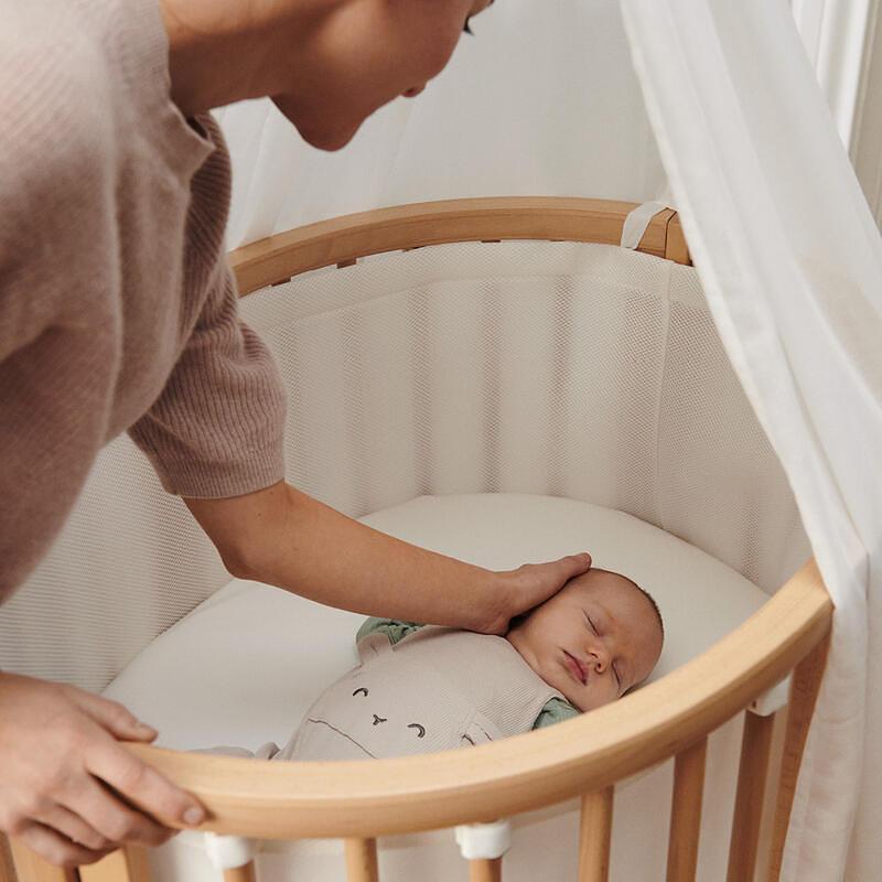
[[[874,879],[882,240],[783,3],[622,6],[714,321],[837,606],[783,878]]]

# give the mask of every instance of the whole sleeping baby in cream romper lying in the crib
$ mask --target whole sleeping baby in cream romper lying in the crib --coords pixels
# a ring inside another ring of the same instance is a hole
[[[257,756],[401,756],[550,725],[646,679],[663,637],[649,594],[601,569],[571,579],[505,637],[369,619],[356,637],[361,664],[322,692],[281,750],[267,744]]]

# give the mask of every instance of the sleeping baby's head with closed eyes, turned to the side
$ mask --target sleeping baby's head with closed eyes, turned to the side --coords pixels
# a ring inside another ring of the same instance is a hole
[[[663,642],[649,600],[607,570],[571,579],[506,638],[581,711],[614,701],[645,680]]]

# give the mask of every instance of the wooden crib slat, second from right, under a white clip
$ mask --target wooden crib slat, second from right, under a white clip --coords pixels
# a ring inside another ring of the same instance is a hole
[[[727,882],[753,882],[775,716],[745,713]]]

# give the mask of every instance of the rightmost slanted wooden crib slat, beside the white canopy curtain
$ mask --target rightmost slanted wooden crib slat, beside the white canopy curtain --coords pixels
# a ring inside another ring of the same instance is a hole
[[[781,762],[775,818],[772,824],[772,846],[768,858],[768,882],[777,882],[781,876],[781,861],[784,856],[784,841],[790,824],[793,797],[799,764],[808,738],[808,727],[818,700],[827,652],[830,648],[829,634],[796,666],[790,684],[790,701],[787,714],[787,731],[784,735],[784,755]]]

